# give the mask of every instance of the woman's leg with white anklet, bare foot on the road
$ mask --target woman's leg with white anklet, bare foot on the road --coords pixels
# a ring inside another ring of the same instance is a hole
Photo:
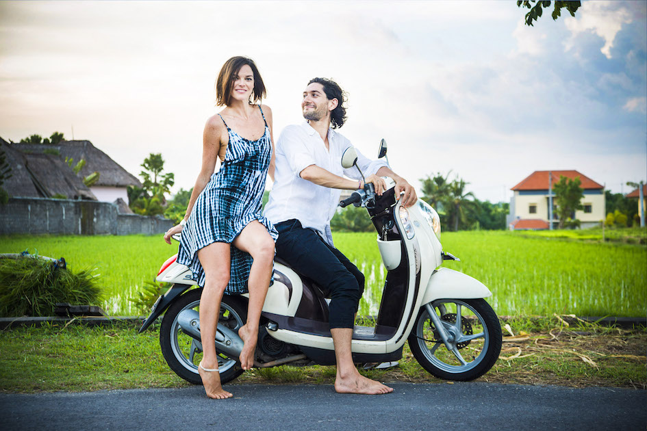
[[[220,385],[218,355],[216,354],[216,326],[220,316],[220,301],[229,283],[229,248],[225,242],[214,242],[198,250],[198,259],[205,271],[205,287],[200,297],[200,338],[203,357],[198,367],[207,397],[224,399],[233,395]]]

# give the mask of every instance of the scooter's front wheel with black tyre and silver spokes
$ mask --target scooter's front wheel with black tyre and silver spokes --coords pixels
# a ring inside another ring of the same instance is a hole
[[[501,326],[490,304],[483,299],[435,300],[420,309],[409,348],[430,374],[445,380],[468,381],[492,368],[501,351]],[[435,313],[448,335],[429,315]]]

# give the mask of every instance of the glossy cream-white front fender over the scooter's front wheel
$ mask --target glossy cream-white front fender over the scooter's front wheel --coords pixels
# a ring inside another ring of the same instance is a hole
[[[431,274],[427,291],[422,296],[422,304],[444,298],[473,299],[488,296],[492,296],[492,292],[476,278],[449,268],[440,268]]]

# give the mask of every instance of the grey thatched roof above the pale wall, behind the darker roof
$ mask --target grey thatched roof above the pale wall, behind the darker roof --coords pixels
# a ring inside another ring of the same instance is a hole
[[[12,144],[16,150],[42,153],[47,148],[59,151],[61,158],[71,157],[73,163],[77,164],[81,159],[86,160],[86,164],[79,172],[79,176],[84,178],[99,172],[99,180],[94,185],[103,185],[110,187],[127,187],[134,185],[142,187],[142,183],[120,164],[110,158],[103,151],[92,145],[90,141],[62,141],[58,145],[51,144]]]

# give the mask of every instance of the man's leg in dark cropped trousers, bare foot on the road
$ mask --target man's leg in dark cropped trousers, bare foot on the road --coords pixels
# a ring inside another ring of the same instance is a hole
[[[354,314],[361,296],[360,288],[364,288],[364,283],[359,285],[359,270],[355,268],[359,276],[352,274],[342,261],[353,267],[355,265],[339,250],[328,246],[316,233],[301,228],[300,224],[277,224],[277,230],[277,256],[331,293],[330,332],[337,360],[335,391],[365,394],[392,392],[392,388],[361,376],[353,363],[351,341]]]

